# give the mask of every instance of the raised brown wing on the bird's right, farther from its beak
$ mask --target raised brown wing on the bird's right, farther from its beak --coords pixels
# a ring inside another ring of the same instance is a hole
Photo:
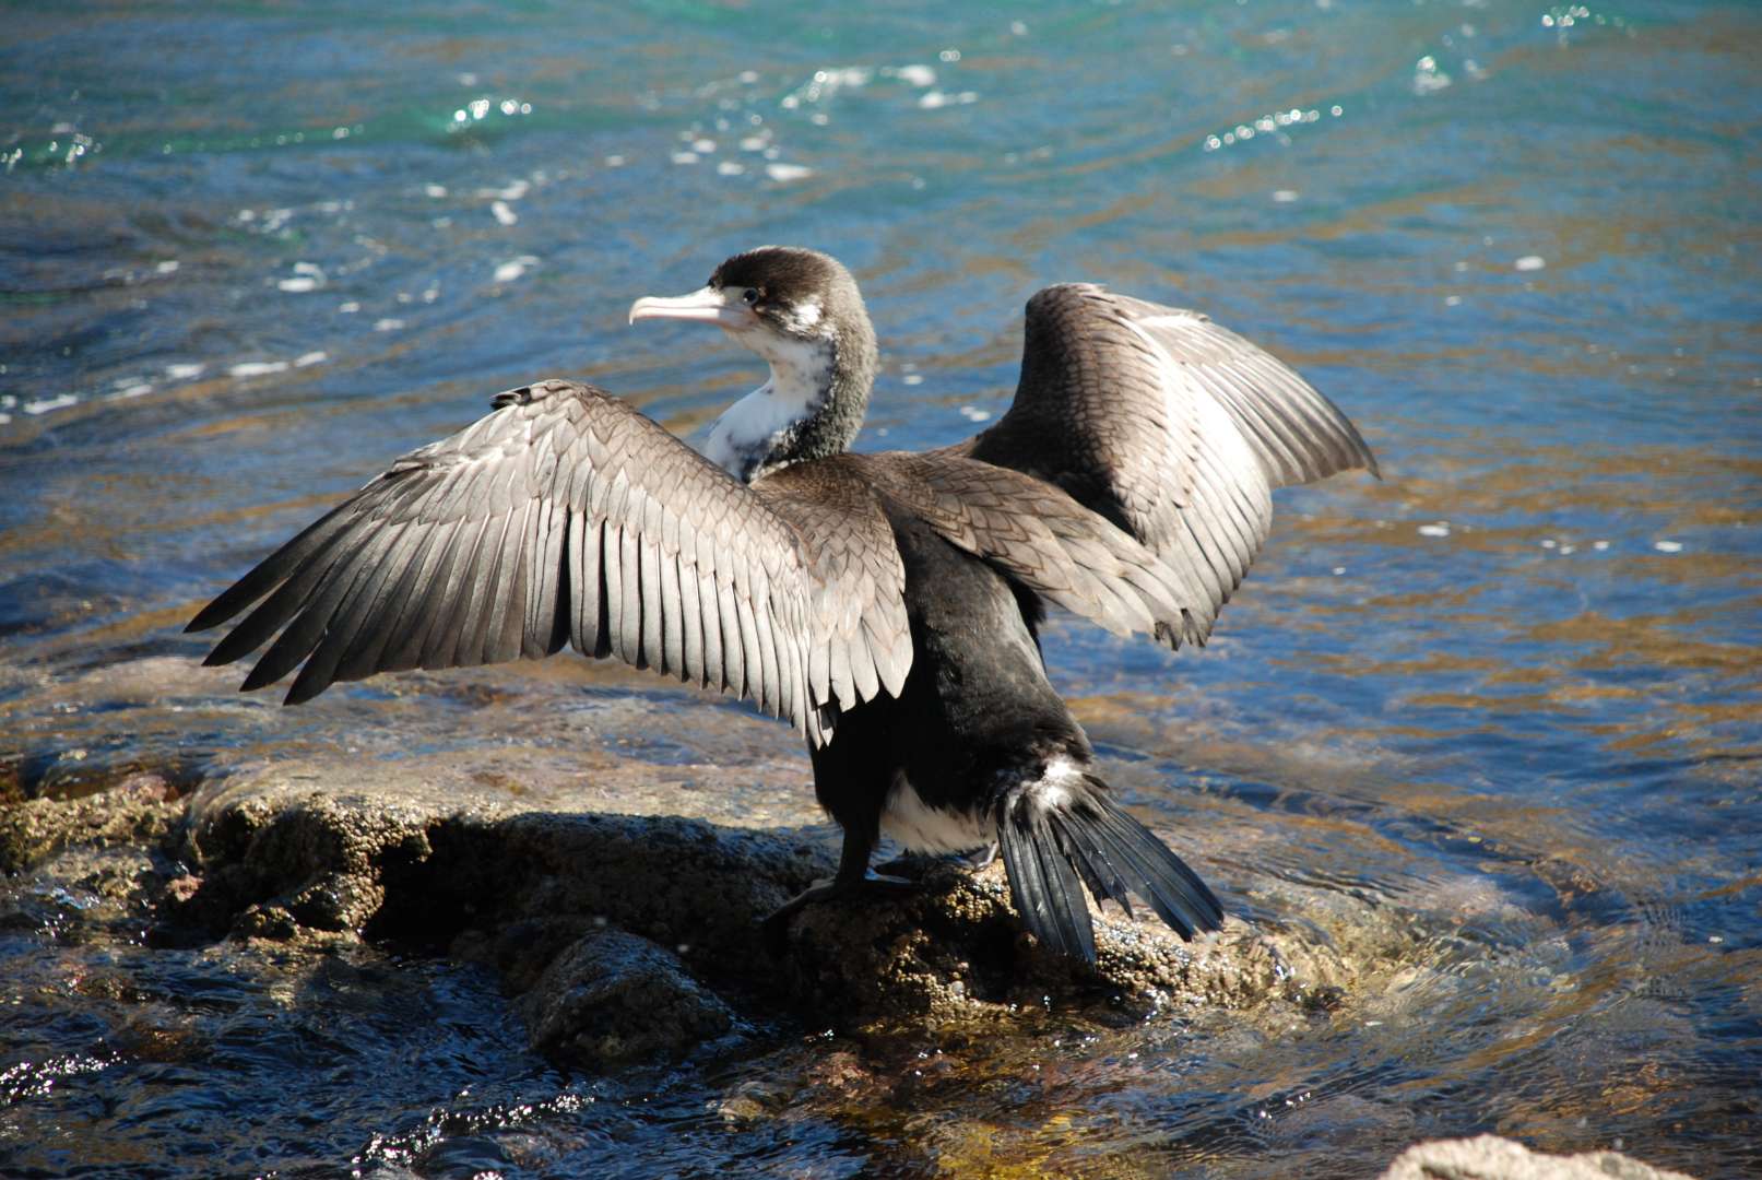
[[[1022,379],[959,451],[1059,484],[1184,583],[1172,645],[1203,643],[1272,523],[1272,488],[1364,467],[1371,449],[1286,365],[1198,312],[1091,284],[1027,303]]]

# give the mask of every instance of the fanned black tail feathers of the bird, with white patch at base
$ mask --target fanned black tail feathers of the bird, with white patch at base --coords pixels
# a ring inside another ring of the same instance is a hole
[[[1166,844],[1119,810],[1107,784],[1075,768],[1011,787],[997,805],[1010,896],[1041,944],[1096,958],[1082,886],[1131,914],[1128,889],[1182,939],[1218,930],[1223,905]]]

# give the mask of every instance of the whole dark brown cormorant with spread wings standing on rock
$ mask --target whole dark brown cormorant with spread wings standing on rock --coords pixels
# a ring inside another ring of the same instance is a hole
[[[909,851],[1001,847],[1041,944],[1094,960],[1084,886],[1138,893],[1182,937],[1218,898],[1096,777],[1047,682],[1048,604],[1203,643],[1267,537],[1272,488],[1376,472],[1295,372],[1196,312],[1091,284],[1027,303],[1015,403],[922,454],[853,454],[876,340],[851,275],[738,254],[631,321],[715,324],[770,365],[705,454],[589,384],[543,380],[388,472],[192,622],[275,638],[243,689],[539,657],[566,643],[733,692],[807,738],[844,830],[837,875],[777,916],[897,879]],[[261,599],[261,602],[259,602]]]

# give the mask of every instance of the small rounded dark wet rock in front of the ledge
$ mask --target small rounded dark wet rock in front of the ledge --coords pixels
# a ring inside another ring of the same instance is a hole
[[[532,1048],[573,1066],[680,1057],[735,1027],[671,951],[599,930],[559,955],[520,1000]]]

